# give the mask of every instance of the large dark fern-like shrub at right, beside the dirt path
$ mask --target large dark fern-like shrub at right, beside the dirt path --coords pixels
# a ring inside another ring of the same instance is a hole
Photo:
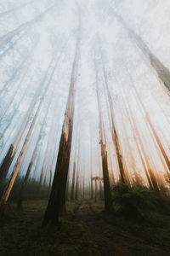
[[[155,191],[139,185],[130,186],[116,183],[112,189],[114,212],[127,218],[149,218],[150,211],[156,210],[160,198]]]

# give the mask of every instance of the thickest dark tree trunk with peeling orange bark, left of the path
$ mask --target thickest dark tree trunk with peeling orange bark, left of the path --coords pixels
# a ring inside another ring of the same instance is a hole
[[[77,40],[78,47],[79,40]],[[59,153],[54,172],[54,181],[48,200],[48,207],[45,211],[42,224],[59,224],[59,212],[65,213],[65,190],[71,155],[72,128],[74,119],[74,88],[77,74],[77,54],[73,62],[71,72],[71,85],[65,111],[62,134],[59,143]]]

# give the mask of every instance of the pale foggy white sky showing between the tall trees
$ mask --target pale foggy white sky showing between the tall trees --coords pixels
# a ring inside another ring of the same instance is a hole
[[[44,13],[47,9],[48,11]],[[114,172],[116,179],[118,179],[116,152],[111,139],[107,113],[108,102],[105,101],[103,87],[104,77],[100,61],[102,55],[114,107],[116,130],[127,170],[133,176],[132,152],[136,170],[144,177],[144,170],[135,146],[132,127],[129,125],[126,106],[123,103],[122,91],[124,97],[130,102],[133,116],[143,138],[145,152],[150,159],[150,165],[156,175],[161,175],[163,181],[165,169],[133,88],[135,87],[138,91],[139,98],[147,109],[167,154],[170,150],[168,91],[160,79],[157,78],[156,71],[144,59],[144,55],[134,44],[132,38],[129,37],[125,27],[116,19],[115,12],[122,17],[128,27],[143,38],[152,53],[166,67],[169,67],[170,3],[167,0],[1,0],[1,161],[7,153],[8,146],[14,142],[14,137],[20,130],[20,125],[31,105],[33,96],[36,95],[38,86],[43,86],[47,70],[50,74],[55,61],[57,61],[48,93],[43,101],[41,112],[20,166],[20,175],[26,173],[47,109],[48,113],[41,131],[42,137],[37,147],[31,176],[38,179],[43,165],[45,165],[47,179],[49,178],[50,168],[54,173],[71,81],[71,67],[79,35],[70,178],[75,150],[78,147],[77,140],[80,142],[81,177],[85,177],[86,183],[89,183],[92,172],[91,166],[94,176],[101,175],[99,109],[96,94],[96,83],[98,83],[105,124],[109,169],[110,172]],[[44,14],[40,16],[42,13]],[[28,24],[31,20],[33,22]],[[20,32],[17,31],[16,29],[23,24],[26,26],[25,29]],[[16,32],[16,34],[13,34],[8,44],[3,44],[4,38],[10,37],[11,32]],[[98,73],[98,81],[96,81],[96,72]],[[41,101],[41,96],[41,93],[37,96],[37,103]],[[36,108],[34,111],[36,111]],[[31,119],[26,126],[26,132],[30,127],[29,125],[31,125]],[[10,172],[12,172],[20,154],[26,132],[21,139]],[[77,133],[79,134],[78,139]],[[146,182],[145,177],[144,182]]]

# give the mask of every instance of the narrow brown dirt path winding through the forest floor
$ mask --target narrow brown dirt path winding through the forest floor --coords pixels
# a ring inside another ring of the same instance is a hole
[[[107,224],[91,210],[88,201],[83,201],[77,210],[77,218],[81,221],[91,241],[99,247],[103,256],[167,256],[170,252],[164,252],[159,247],[147,245],[145,241],[132,236],[127,232],[118,230],[116,227]],[[87,255],[88,256],[88,255]]]

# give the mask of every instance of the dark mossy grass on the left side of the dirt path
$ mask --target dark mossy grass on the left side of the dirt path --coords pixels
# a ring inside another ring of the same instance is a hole
[[[23,212],[17,212],[16,206],[9,204],[0,221],[0,255],[98,255],[75,217],[79,204],[80,201],[67,202],[68,214],[60,218],[59,229],[41,227],[47,201],[26,201]]]

